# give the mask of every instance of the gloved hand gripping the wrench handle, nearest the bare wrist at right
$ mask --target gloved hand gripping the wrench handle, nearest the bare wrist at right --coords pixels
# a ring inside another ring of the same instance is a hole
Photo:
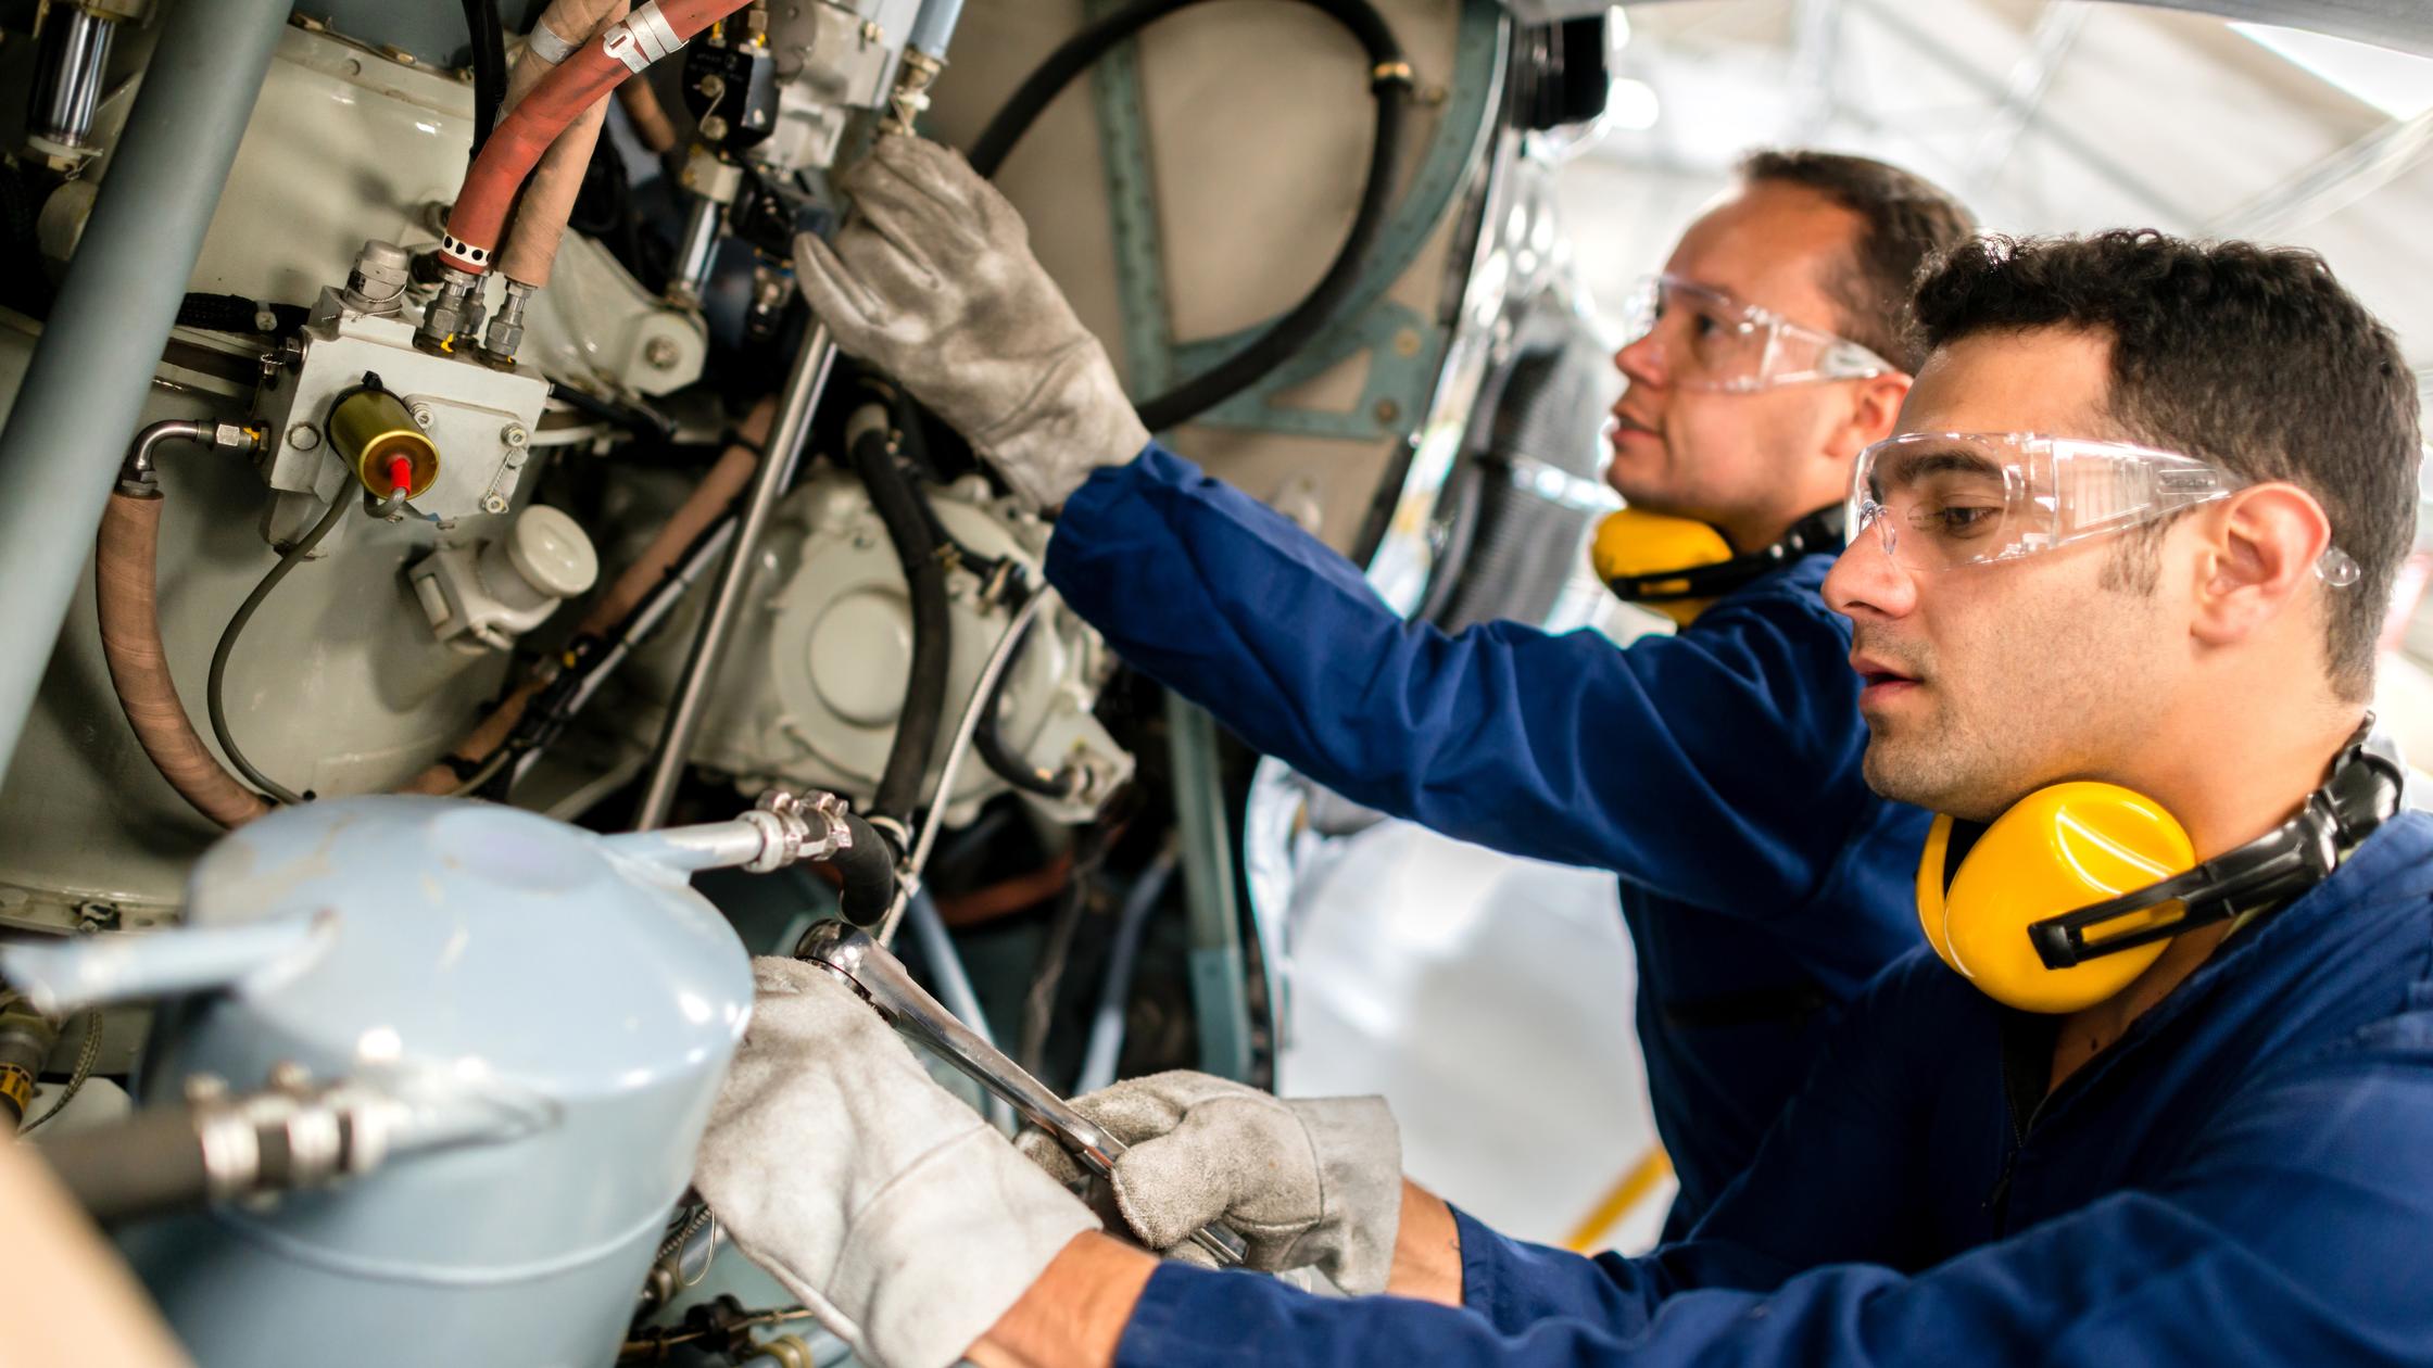
[[[1207,1263],[1185,1239],[1221,1220],[1248,1244],[1248,1268],[1314,1266],[1345,1293],[1384,1290],[1401,1224],[1401,1132],[1384,1098],[1287,1103],[1178,1069],[1073,1108],[1131,1146],[1114,1161],[1114,1202],[1151,1249]],[[1083,1178],[1053,1137],[1015,1144],[1061,1183]]]

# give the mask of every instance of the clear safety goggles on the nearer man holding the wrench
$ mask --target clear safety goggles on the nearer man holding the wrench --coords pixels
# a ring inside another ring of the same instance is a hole
[[[2229,499],[2251,480],[2219,465],[2122,441],[2039,433],[1903,433],[1859,453],[1844,526],[1873,531],[1907,570],[2017,560],[2122,533]],[[2358,562],[2324,548],[2314,572],[2358,582]]]

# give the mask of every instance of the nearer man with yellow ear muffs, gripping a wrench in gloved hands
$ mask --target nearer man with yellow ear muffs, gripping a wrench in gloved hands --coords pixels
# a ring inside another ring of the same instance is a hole
[[[1934,351],[1856,462],[1825,594],[1869,781],[1944,813],[1927,944],[1686,1241],[1508,1241],[1345,1161],[1392,1154],[1389,1117],[1236,1091],[1180,1127],[1126,1098],[1126,1220],[1224,1220],[1263,1268],[1377,1258],[1397,1295],[1161,1263],[1073,1234],[1088,1212],[995,1137],[929,1161],[980,1122],[890,1125],[954,1105],[779,964],[696,1178],[737,1244],[808,1305],[876,1305],[883,1271],[927,1327],[995,1314],[983,1368],[2433,1361],[2433,818],[2365,711],[2416,377],[2319,258],[2248,243],[1971,243],[1917,316]],[[827,1127],[754,1168],[781,1100]],[[852,1181],[786,1176],[800,1151]],[[983,1217],[883,1220],[939,1168]],[[820,1183],[886,1198],[839,1220]]]

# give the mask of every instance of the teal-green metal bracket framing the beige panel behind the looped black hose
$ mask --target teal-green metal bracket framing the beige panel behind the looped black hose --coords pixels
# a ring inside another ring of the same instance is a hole
[[[1117,0],[1090,0],[1092,19]],[[1202,414],[1199,424],[1297,436],[1377,441],[1401,436],[1426,414],[1450,331],[1414,309],[1384,299],[1411,268],[1462,190],[1504,92],[1508,22],[1496,0],[1462,0],[1453,73],[1433,97],[1435,131],[1428,151],[1387,217],[1360,280],[1338,316],[1299,355],[1258,385]],[[1173,341],[1165,299],[1165,256],[1158,236],[1156,170],[1148,151],[1148,114],[1141,102],[1141,66],[1134,41],[1117,44],[1090,73],[1100,148],[1107,173],[1107,217],[1114,229],[1117,297],[1124,319],[1124,358],[1134,394],[1168,389],[1178,375],[1197,375],[1241,351],[1268,324],[1238,333]],[[1367,353],[1370,370],[1360,399],[1343,411],[1297,409],[1275,397],[1343,360]]]

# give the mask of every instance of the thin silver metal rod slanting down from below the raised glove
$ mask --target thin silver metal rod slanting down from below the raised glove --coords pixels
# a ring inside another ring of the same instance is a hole
[[[827,387],[827,370],[837,360],[837,343],[827,336],[827,324],[815,324],[803,338],[803,351],[793,358],[786,389],[779,397],[776,421],[769,426],[769,450],[744,492],[744,509],[735,521],[735,545],[727,548],[718,582],[710,584],[710,601],[701,613],[701,635],[676,679],[676,696],[667,703],[667,725],[659,728],[659,745],[650,757],[650,781],[642,786],[642,803],[633,813],[635,830],[652,830],[667,820],[676,803],[676,781],[693,752],[693,733],[701,730],[701,708],[710,699],[710,679],[718,674],[718,652],[735,633],[742,611],[744,587],[752,582],[752,553],[769,528],[769,514],[793,480],[793,467],[810,443],[810,414],[820,407],[820,389]]]

